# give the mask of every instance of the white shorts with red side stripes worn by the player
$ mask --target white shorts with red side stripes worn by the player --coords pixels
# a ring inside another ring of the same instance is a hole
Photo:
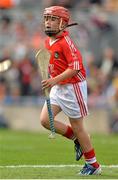
[[[77,119],[88,115],[86,81],[53,86],[50,101],[70,118]]]

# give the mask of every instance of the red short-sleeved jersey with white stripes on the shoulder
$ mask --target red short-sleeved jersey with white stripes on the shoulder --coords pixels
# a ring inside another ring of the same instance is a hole
[[[47,38],[45,43],[46,48],[51,52],[49,61],[49,74],[51,77],[55,77],[69,68],[78,70],[78,74],[61,81],[59,84],[73,84],[85,80],[86,73],[81,53],[73,44],[67,31],[64,31],[61,36],[58,36],[53,44],[50,43],[50,38]]]

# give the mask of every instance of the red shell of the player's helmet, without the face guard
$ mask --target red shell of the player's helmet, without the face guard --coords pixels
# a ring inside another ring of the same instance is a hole
[[[68,9],[62,6],[51,6],[51,7],[45,8],[44,16],[60,17],[67,23],[69,22],[69,19],[70,19],[70,13]]]

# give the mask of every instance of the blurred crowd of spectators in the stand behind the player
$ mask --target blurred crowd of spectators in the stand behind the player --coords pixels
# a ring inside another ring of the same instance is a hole
[[[70,9],[72,21],[79,23],[68,30],[83,54],[89,106],[104,106],[107,98],[118,93],[118,1],[36,1],[39,6],[33,0],[23,2],[25,9],[22,0],[21,5],[0,9],[0,60],[12,61],[12,67],[0,74],[0,99],[14,102],[42,96],[35,60],[45,39],[42,12],[44,7],[63,5]]]

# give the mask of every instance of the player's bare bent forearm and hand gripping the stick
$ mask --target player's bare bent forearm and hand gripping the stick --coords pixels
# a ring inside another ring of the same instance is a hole
[[[77,73],[78,73],[78,70],[68,68],[63,73],[57,75],[56,77],[49,78],[47,80],[43,80],[42,81],[42,87],[43,87],[43,89],[48,88],[48,87],[52,87],[61,81],[64,81],[68,78],[72,78]]]

